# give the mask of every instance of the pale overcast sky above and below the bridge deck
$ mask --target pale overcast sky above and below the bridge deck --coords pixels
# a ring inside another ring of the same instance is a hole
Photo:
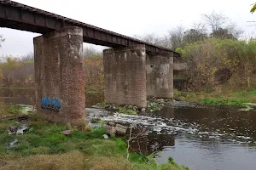
[[[201,14],[212,10],[222,12],[237,26],[252,35],[255,26],[249,27],[247,20],[256,20],[250,14],[255,0],[16,0],[18,3],[41,8],[84,23],[99,26],[126,36],[154,33],[162,36],[177,25],[189,27],[200,21]],[[33,51],[32,37],[39,34],[0,28],[6,38],[0,55],[24,55]],[[254,36],[256,34],[254,33]],[[102,47],[97,47],[102,49]]]

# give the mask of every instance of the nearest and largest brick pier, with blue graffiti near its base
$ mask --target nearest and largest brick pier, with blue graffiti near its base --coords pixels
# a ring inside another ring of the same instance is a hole
[[[73,123],[85,114],[83,30],[65,27],[34,38],[38,114]]]

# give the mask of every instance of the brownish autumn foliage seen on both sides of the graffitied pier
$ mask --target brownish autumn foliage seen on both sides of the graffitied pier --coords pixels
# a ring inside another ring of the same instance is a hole
[[[102,90],[104,74],[102,56],[84,58],[85,89]],[[0,63],[0,87],[34,88],[34,62],[13,56]]]

